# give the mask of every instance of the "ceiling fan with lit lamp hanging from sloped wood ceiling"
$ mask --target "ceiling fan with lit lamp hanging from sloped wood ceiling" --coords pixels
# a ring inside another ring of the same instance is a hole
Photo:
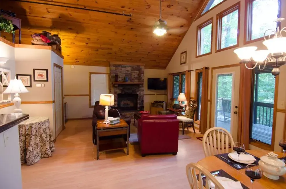
[[[173,20],[172,22],[176,24],[181,24],[180,27],[169,28],[167,26],[167,22],[165,20],[162,20],[162,5],[161,4],[162,4],[162,0],[160,0],[160,19],[155,22],[153,33],[157,36],[163,36],[167,33],[167,31],[168,33],[173,33],[173,34],[184,33],[187,30],[187,28],[183,27],[183,25],[186,24],[187,21],[182,18],[175,17],[175,20],[172,19]],[[174,24],[172,25],[174,26]]]

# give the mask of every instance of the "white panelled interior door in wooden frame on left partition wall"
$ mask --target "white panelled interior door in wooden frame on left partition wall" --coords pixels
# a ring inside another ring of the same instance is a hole
[[[55,129],[56,136],[63,129],[63,109],[62,109],[62,91],[61,91],[61,69],[54,67],[54,89],[55,89]]]

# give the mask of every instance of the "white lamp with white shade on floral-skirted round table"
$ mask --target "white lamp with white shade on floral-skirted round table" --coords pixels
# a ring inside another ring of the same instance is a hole
[[[26,87],[23,85],[20,79],[11,79],[7,89],[3,92],[4,94],[14,94],[15,98],[13,99],[14,105],[16,109],[14,109],[14,113],[22,113],[22,109],[20,109],[21,98],[18,93],[29,93]]]

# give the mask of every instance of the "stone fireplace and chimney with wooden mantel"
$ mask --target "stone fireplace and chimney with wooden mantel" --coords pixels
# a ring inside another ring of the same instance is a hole
[[[128,81],[142,82],[142,85],[133,85],[125,83],[116,85],[115,75],[118,75],[118,81],[124,82],[124,77]],[[144,104],[144,66],[141,65],[121,65],[110,64],[110,94],[114,94],[114,105],[126,116],[133,118],[140,106]]]

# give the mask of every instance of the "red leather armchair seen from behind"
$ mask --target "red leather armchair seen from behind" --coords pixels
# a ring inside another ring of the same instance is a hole
[[[138,119],[141,155],[178,152],[179,120],[175,114],[142,114]]]

